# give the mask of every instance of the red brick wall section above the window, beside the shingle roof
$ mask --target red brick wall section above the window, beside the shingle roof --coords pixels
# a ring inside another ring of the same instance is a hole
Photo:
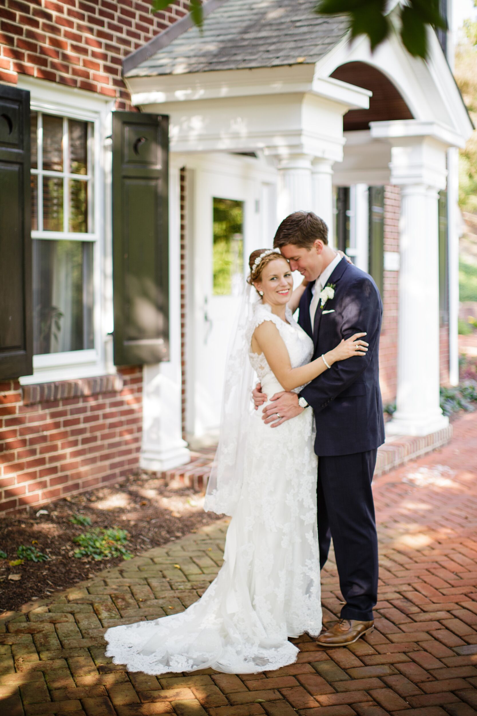
[[[1,0],[0,82],[30,74],[129,109],[122,59],[185,15],[188,2],[154,15],[150,7],[148,0]]]

